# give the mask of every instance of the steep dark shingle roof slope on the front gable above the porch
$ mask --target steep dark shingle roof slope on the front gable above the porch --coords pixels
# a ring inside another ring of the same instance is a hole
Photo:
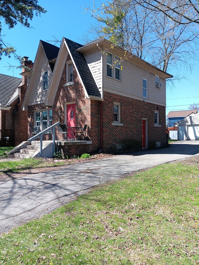
[[[67,38],[64,38],[67,46],[71,52],[71,55],[73,57],[73,60],[75,62],[75,65],[77,67],[77,70],[81,76],[81,79],[83,81],[83,84],[86,88],[87,94],[89,96],[95,96],[101,98],[101,94],[99,92],[99,89],[95,83],[95,80],[90,72],[90,69],[88,67],[88,64],[86,62],[86,59],[83,55],[83,53],[76,51],[78,48],[83,47],[83,45],[76,43],[72,40],[69,40]]]

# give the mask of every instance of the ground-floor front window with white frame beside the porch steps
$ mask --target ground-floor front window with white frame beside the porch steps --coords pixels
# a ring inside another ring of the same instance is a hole
[[[35,112],[35,126],[40,126],[40,130],[44,130],[52,125],[53,111],[42,110]]]

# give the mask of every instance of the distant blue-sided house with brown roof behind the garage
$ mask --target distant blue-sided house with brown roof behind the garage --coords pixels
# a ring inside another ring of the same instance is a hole
[[[181,110],[181,111],[169,111],[168,115],[167,115],[167,125],[168,127],[173,127],[174,126],[174,122],[180,121],[182,119],[184,119],[185,117],[187,117],[190,114],[196,114],[197,113],[197,109],[193,109],[193,110]]]

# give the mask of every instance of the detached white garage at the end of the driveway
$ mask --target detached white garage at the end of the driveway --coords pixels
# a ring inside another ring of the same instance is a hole
[[[178,140],[199,140],[199,113],[192,113],[175,124],[178,126]]]

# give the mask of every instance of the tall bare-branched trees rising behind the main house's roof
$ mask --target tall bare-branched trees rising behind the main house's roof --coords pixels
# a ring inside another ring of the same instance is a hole
[[[165,12],[152,8],[154,2],[112,0],[90,9],[101,23],[98,36],[108,38],[163,71],[172,66],[191,68],[198,42],[196,27],[184,24],[183,16],[178,15],[178,22],[171,20]]]

